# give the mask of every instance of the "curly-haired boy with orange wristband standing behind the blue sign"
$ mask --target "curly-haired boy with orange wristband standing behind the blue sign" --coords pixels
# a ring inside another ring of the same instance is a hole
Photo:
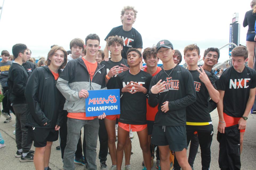
[[[127,67],[127,59],[122,58],[121,52],[123,49],[123,39],[118,36],[111,36],[107,41],[107,48],[111,52],[112,57],[109,61],[102,61],[101,64],[105,65],[107,71],[106,82],[107,89],[115,89],[117,75],[123,71],[129,70]],[[108,115],[104,121],[108,135],[108,147],[109,153],[112,161],[112,165],[109,168],[110,170],[117,169],[117,160],[116,160],[116,146],[115,146],[115,123],[116,119],[119,119],[120,115]],[[130,154],[131,153],[131,142],[125,148],[125,162],[130,164]]]

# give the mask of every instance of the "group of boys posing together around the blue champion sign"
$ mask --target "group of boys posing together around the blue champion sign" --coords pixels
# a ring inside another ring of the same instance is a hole
[[[35,169],[51,169],[51,145],[60,135],[65,170],[74,169],[74,162],[85,165],[85,169],[97,169],[99,136],[100,168],[121,170],[124,152],[125,169],[129,170],[132,169],[129,136],[132,130],[138,134],[143,169],[151,169],[154,158],[151,143],[158,146],[158,169],[169,170],[171,166],[175,170],[192,169],[193,163],[187,159],[187,146],[193,142],[195,133],[201,148],[202,169],[209,169],[213,139],[210,112],[217,107],[219,167],[240,169],[243,134],[256,91],[256,72],[245,66],[246,48],[239,46],[232,50],[233,66],[218,79],[212,70],[220,55],[217,48],[206,49],[204,64],[198,67],[199,47],[196,44],[186,46],[187,69],[179,66],[181,53],[174,50],[168,40],[161,40],[141,53],[141,35],[132,27],[136,15],[133,7],[123,8],[123,25],[113,28],[107,35],[104,51],[100,50],[96,34],[88,35],[85,43],[79,38],[73,39],[71,54],[67,55],[61,46],[53,46],[45,66],[33,69],[30,76],[22,67],[28,55],[27,46],[13,46],[15,60],[10,65],[7,84],[16,114],[15,156],[20,157],[21,162],[33,161]],[[142,60],[146,63],[143,70]],[[162,67],[157,66],[159,60]],[[86,116],[85,98],[89,90],[101,89],[120,89],[120,115]],[[85,157],[82,155],[82,128]],[[32,141],[35,152],[29,150]],[[109,167],[106,164],[108,150],[112,162]],[[170,153],[175,155],[172,165]]]

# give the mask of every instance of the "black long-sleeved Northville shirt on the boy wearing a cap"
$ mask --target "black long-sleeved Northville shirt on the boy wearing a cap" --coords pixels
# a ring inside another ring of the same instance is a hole
[[[186,125],[186,107],[196,101],[195,86],[191,73],[181,66],[175,66],[171,70],[161,70],[152,78],[149,89],[157,84],[160,79],[166,81],[163,84],[164,90],[158,94],[149,91],[149,105],[155,107],[159,104],[154,125]],[[161,111],[162,103],[165,101],[169,101],[169,111],[166,113]]]

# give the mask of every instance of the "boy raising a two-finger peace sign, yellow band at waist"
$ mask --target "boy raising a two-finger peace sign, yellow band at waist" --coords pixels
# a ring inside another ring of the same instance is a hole
[[[187,144],[197,131],[199,145],[201,148],[202,170],[208,170],[211,162],[211,142],[213,140],[213,125],[210,112],[208,110],[208,98],[218,103],[219,92],[215,86],[213,76],[210,72],[204,71],[198,67],[200,60],[200,49],[196,44],[190,44],[184,49],[184,59],[187,63],[187,69],[194,79],[195,91],[197,95],[196,102],[187,106]],[[178,164],[174,163],[175,170]]]

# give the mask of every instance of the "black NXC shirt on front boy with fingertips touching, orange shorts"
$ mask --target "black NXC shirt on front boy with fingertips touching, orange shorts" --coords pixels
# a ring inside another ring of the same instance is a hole
[[[117,76],[117,84],[120,89],[121,99],[121,114],[119,122],[133,125],[145,125],[146,121],[146,98],[148,96],[149,85],[152,76],[145,71],[140,71],[138,74],[133,75],[130,70],[119,73]],[[122,88],[125,87],[130,81],[137,82],[147,89],[147,93],[136,92],[131,94],[125,92],[122,94]]]

